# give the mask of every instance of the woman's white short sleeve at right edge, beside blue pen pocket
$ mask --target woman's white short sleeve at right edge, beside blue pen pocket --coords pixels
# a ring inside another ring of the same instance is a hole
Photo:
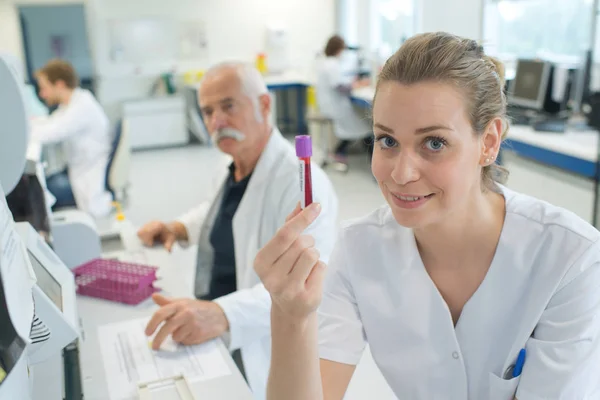
[[[600,249],[569,268],[526,344],[519,400],[600,398]]]

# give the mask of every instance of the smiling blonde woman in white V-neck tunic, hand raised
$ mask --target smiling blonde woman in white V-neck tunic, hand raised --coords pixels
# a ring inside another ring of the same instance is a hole
[[[600,233],[495,180],[502,65],[426,33],[378,80],[388,204],[345,225],[327,269],[296,257],[310,207],[256,258],[273,299],[268,398],[341,400],[368,342],[399,399],[600,399]]]

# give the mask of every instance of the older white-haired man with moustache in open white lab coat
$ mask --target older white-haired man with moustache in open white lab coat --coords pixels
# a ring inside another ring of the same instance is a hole
[[[234,359],[257,399],[265,398],[270,361],[271,299],[254,272],[258,250],[285,223],[300,200],[298,159],[293,145],[271,126],[270,97],[260,73],[244,64],[209,70],[199,90],[200,109],[225,163],[215,165],[216,190],[209,200],[171,223],[150,222],[139,231],[146,245],[171,249],[175,241],[198,244],[197,299],[155,295],[161,307],[146,333],[158,330],[154,346],[171,335],[196,344],[229,335]],[[331,182],[313,166],[313,192],[323,205],[305,245],[328,258],[337,223],[337,198]],[[164,324],[160,329],[159,325]]]

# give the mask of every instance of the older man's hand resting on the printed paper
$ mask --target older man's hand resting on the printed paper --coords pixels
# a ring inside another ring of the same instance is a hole
[[[169,335],[177,343],[192,345],[219,337],[229,330],[223,309],[213,301],[169,299],[157,293],[152,295],[152,300],[160,309],[148,322],[146,335],[151,336],[164,322],[152,341],[154,350],[158,350]]]

